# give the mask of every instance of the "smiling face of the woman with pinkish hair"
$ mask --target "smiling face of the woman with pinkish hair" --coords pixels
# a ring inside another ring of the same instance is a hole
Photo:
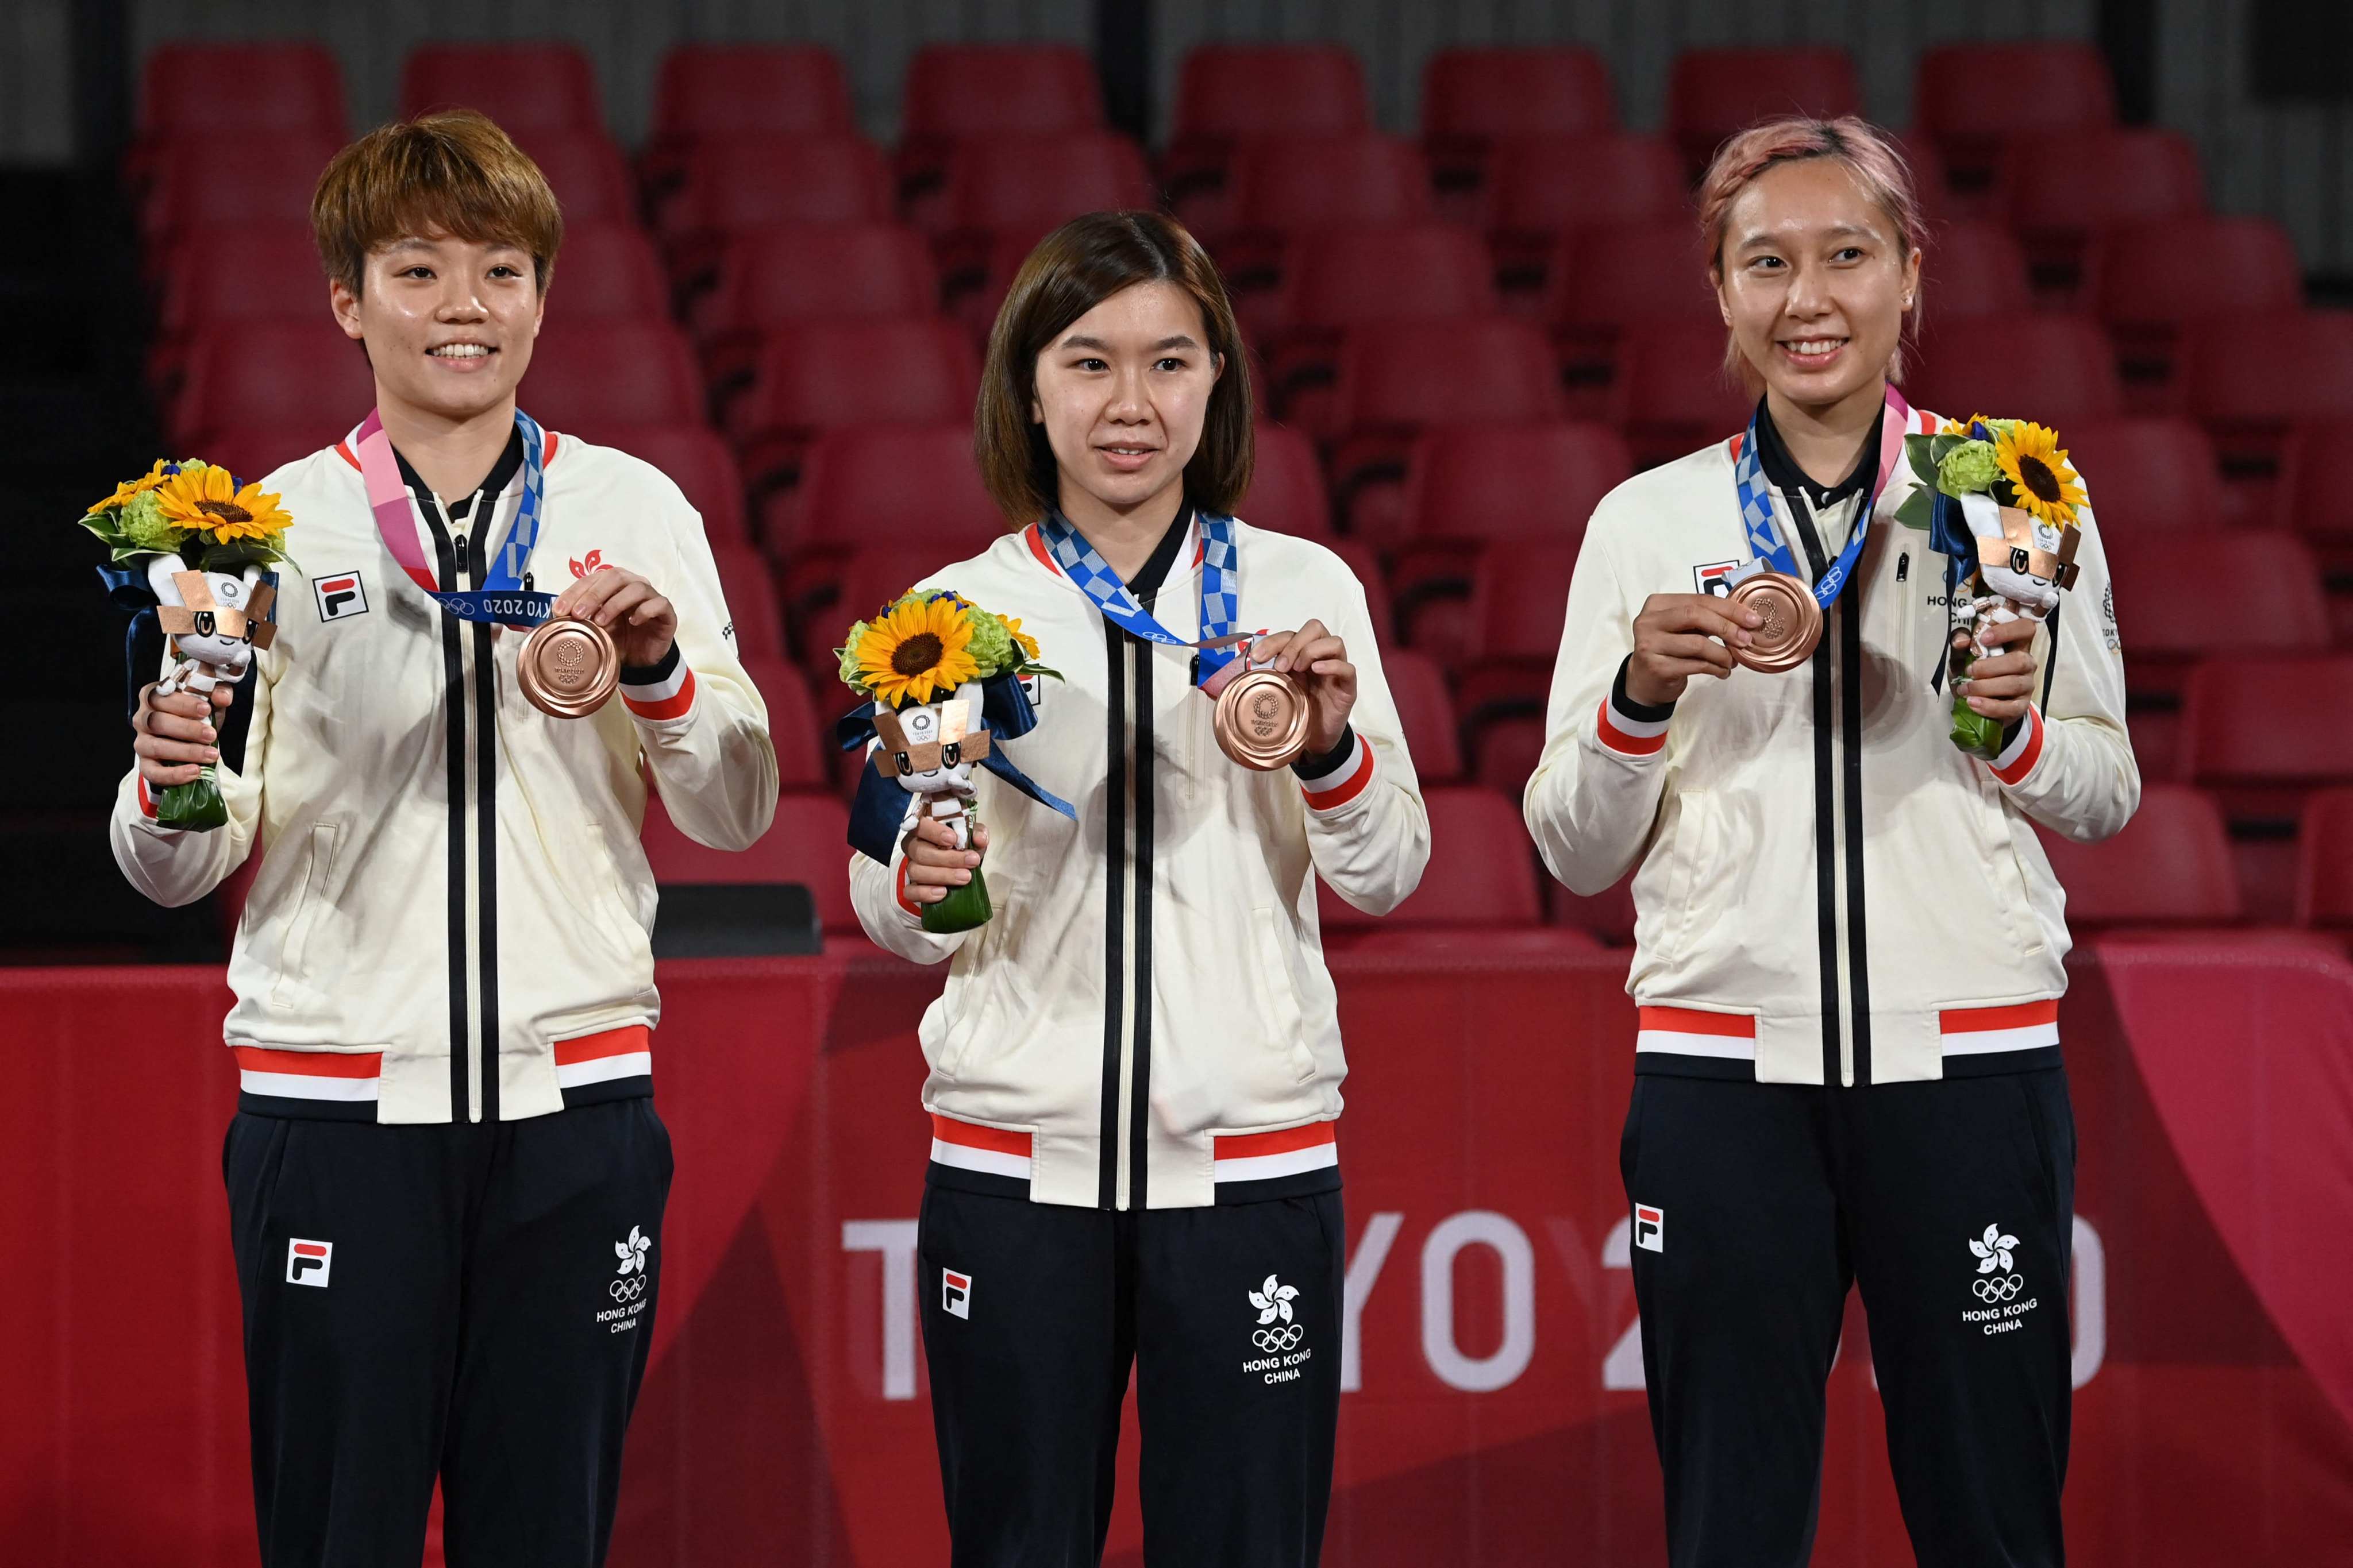
[[[1920,252],[1835,158],[1781,162],[1732,200],[1715,299],[1741,357],[1798,409],[1878,397]]]

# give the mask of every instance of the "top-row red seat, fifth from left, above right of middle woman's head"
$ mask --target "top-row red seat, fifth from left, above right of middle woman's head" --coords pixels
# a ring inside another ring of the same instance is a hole
[[[1202,45],[1186,54],[1160,172],[1169,197],[1217,190],[1240,141],[1372,129],[1365,68],[1341,45]],[[1217,228],[1188,212],[1188,221]]]

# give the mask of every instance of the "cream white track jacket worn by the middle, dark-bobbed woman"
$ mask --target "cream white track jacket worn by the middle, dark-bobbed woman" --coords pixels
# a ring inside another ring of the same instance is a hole
[[[1198,527],[1176,527],[1148,609],[1195,637]],[[1238,625],[1320,618],[1355,663],[1351,736],[1313,776],[1231,762],[1191,656],[1111,628],[1035,529],[922,583],[1019,616],[1061,670],[1038,682],[1038,729],[1005,752],[1078,811],[974,776],[995,917],[960,936],[922,931],[899,858],[849,860],[873,940],[951,959],[922,1018],[932,1180],[1101,1208],[1339,1185],[1348,1067],[1315,879],[1384,914],[1421,882],[1431,832],[1355,576],[1247,524],[1235,550]]]

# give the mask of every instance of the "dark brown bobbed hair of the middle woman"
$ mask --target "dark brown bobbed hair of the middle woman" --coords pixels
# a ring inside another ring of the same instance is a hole
[[[988,331],[988,367],[972,416],[981,482],[1012,527],[1059,505],[1061,480],[1045,428],[1031,418],[1038,355],[1078,317],[1139,282],[1172,282],[1200,306],[1209,353],[1224,369],[1209,388],[1200,447],[1184,465],[1186,496],[1205,512],[1231,512],[1249,489],[1249,364],[1217,263],[1176,219],[1158,212],[1089,212],[1028,254]]]

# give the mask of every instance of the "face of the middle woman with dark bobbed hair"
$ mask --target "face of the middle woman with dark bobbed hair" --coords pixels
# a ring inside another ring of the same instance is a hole
[[[1184,487],[1224,360],[1174,282],[1111,294],[1038,355],[1031,421],[1045,425],[1061,510],[1134,512]]]

